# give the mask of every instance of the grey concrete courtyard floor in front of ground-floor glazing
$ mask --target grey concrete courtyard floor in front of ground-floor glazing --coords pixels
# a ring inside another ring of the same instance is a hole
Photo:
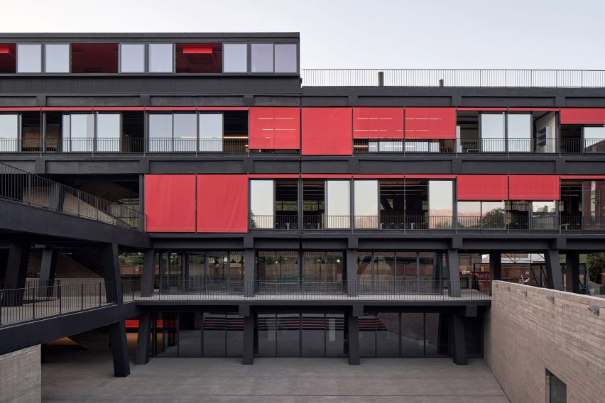
[[[506,403],[484,360],[447,358],[152,358],[112,376],[109,353],[50,346],[43,402]]]

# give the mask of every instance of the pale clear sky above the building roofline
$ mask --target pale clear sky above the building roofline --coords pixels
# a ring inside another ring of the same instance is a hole
[[[1,4],[3,32],[300,32],[303,69],[605,69],[605,0]]]

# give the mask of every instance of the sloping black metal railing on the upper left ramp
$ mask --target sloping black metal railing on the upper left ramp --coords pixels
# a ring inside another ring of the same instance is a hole
[[[144,230],[145,214],[125,204],[33,175],[0,162],[0,199],[63,214]]]

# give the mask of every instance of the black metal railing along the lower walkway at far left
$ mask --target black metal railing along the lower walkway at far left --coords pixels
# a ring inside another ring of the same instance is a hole
[[[41,284],[0,290],[0,326],[116,304],[113,282]]]

